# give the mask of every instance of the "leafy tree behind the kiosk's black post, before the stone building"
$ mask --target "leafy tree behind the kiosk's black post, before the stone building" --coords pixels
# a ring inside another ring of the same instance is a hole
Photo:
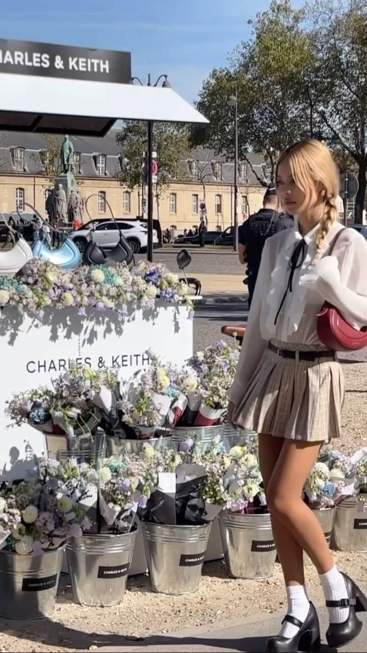
[[[126,121],[116,135],[121,147],[121,169],[118,175],[121,184],[130,190],[142,183],[142,166],[144,152],[147,149],[148,129],[145,122]],[[187,131],[182,125],[154,123],[153,150],[157,152],[157,183],[155,184],[155,202],[159,217],[159,204],[164,197],[172,179],[182,179],[185,170],[182,157],[188,150]]]

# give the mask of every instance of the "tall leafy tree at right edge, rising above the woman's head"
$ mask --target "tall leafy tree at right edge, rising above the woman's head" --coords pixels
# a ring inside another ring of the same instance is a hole
[[[309,7],[328,101],[317,108],[323,136],[342,166],[357,168],[355,221],[362,222],[367,171],[367,3],[317,0]]]

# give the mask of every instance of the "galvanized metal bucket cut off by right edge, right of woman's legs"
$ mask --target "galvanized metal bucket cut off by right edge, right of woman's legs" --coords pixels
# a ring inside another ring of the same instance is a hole
[[[336,506],[334,539],[340,551],[367,551],[367,503],[351,496]]]

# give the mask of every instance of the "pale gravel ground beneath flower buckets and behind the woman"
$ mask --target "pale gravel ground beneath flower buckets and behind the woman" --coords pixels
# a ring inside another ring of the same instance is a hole
[[[337,447],[351,453],[366,445],[367,366],[347,364],[347,396],[343,410],[343,438]],[[334,552],[336,564],[360,584],[367,586],[366,554]],[[308,567],[308,585],[313,600],[323,600],[317,574]],[[122,605],[91,609],[72,603],[68,577],[63,576],[52,620],[10,622],[0,620],[3,631],[0,651],[50,653],[76,652],[99,646],[119,646],[131,638],[158,631],[206,626],[242,616],[273,613],[285,603],[279,565],[268,581],[229,579],[221,562],[204,565],[200,590],[191,596],[153,594],[145,576],[129,580]]]

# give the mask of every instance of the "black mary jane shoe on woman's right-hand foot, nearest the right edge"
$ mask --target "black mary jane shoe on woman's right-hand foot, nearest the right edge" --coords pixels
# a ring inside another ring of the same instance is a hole
[[[329,608],[347,608],[349,615],[342,624],[330,624],[327,629],[327,643],[330,648],[340,648],[356,639],[362,630],[362,622],[357,618],[356,613],[367,612],[367,597],[359,587],[345,573],[342,574],[347,586],[347,599],[340,601],[327,601]]]

